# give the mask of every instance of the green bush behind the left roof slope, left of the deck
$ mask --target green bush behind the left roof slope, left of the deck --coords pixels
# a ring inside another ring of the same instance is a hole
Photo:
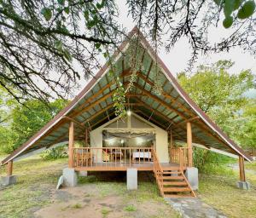
[[[44,160],[54,160],[58,158],[67,158],[67,146],[57,146],[54,148],[51,148],[49,150],[46,150],[41,154],[41,157]]]

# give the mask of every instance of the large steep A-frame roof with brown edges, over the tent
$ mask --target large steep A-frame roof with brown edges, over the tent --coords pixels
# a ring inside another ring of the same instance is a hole
[[[131,91],[125,95],[126,108],[137,112],[162,129],[172,129],[172,135],[176,140],[186,141],[186,122],[190,121],[193,127],[193,142],[207,148],[212,147],[241,155],[250,161],[251,158],[241,147],[231,141],[189,98],[137,27],[128,34],[127,39],[119,46],[112,58],[116,66],[114,73],[121,78],[124,85],[127,85],[131,78],[129,49],[132,49],[131,38],[135,36],[139,36],[139,43],[143,49],[140,50],[141,55],[138,55],[141,65],[136,81]],[[155,67],[156,63],[159,68]],[[160,69],[158,83],[162,87],[161,95],[154,90],[157,69]],[[102,123],[114,118],[113,93],[117,87],[111,75],[108,64],[105,64],[67,107],[1,164],[61,141],[68,141],[68,126],[71,119],[77,123],[76,139],[83,140],[85,127],[96,129]]]

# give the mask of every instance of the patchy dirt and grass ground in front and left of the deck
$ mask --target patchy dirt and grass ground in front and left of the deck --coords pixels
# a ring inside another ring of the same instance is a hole
[[[179,217],[160,197],[152,174],[139,173],[132,192],[126,190],[125,172],[90,174],[79,177],[79,186],[55,190],[66,165],[67,159],[15,163],[18,182],[0,190],[0,218]]]

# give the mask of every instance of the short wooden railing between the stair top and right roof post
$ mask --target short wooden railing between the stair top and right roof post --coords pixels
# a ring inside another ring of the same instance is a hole
[[[189,148],[172,147],[171,162],[179,164],[180,169],[183,171],[183,169],[189,165]]]

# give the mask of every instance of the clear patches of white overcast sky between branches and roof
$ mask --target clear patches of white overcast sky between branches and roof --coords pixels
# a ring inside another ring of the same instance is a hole
[[[133,22],[131,15],[128,15],[128,9],[125,2],[126,1],[124,0],[116,0],[120,12],[118,20],[123,27],[126,28],[127,32],[130,32],[131,29],[136,26],[136,23]],[[219,25],[218,28],[212,28],[212,30],[209,31],[209,38],[210,40],[211,38],[212,40],[216,40],[227,34],[229,34],[229,30],[224,29],[222,25]],[[166,40],[167,39],[168,38],[166,38]],[[169,68],[170,72],[176,76],[178,72],[183,72],[188,68],[191,53],[192,49],[189,47],[188,40],[186,38],[181,38],[169,53],[166,52],[165,48],[160,48],[159,56]],[[199,55],[195,62],[194,69],[192,70],[195,70],[196,66],[211,64],[218,60],[231,60],[235,62],[235,65],[230,68],[230,73],[238,73],[241,72],[241,70],[251,69],[256,75],[256,57],[244,52],[241,48],[230,49],[229,53],[222,52],[218,54]],[[79,81],[81,86],[80,89],[83,89],[84,85],[88,82],[89,81],[84,81],[84,79]],[[79,91],[80,90],[77,90],[75,95],[79,94]],[[250,91],[250,95],[251,93],[256,97],[255,89]]]

